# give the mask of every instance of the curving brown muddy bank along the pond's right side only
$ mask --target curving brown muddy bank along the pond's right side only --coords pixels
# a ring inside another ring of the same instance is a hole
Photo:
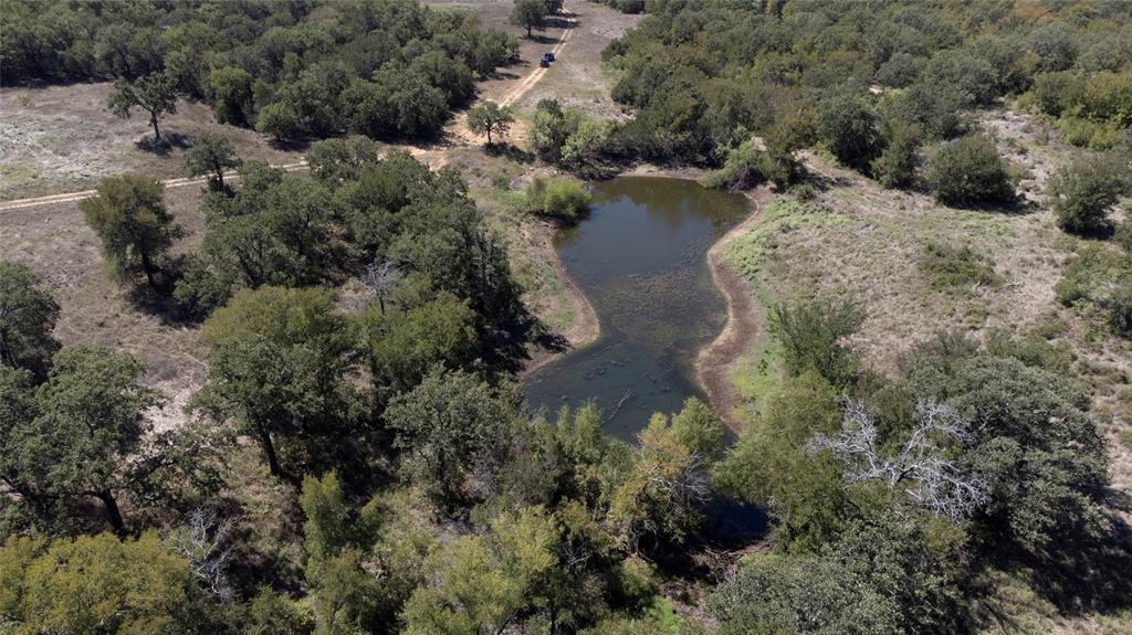
[[[736,419],[735,408],[743,399],[731,381],[731,367],[751,350],[756,338],[764,337],[762,312],[751,285],[724,260],[728,245],[745,233],[758,219],[758,211],[771,200],[771,191],[765,185],[751,192],[755,211],[749,218],[728,232],[707,251],[707,267],[715,286],[727,298],[727,325],[723,332],[700,351],[696,358],[696,375],[707,394],[707,401],[723,423],[738,433],[741,425]]]

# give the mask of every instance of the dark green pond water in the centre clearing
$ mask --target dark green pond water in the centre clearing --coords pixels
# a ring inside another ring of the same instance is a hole
[[[626,176],[592,192],[590,216],[559,230],[554,244],[601,336],[532,373],[526,397],[532,408],[551,410],[592,399],[608,418],[606,432],[629,440],[652,412],[703,399],[696,356],[727,322],[706,254],[748,203],[679,179]]]

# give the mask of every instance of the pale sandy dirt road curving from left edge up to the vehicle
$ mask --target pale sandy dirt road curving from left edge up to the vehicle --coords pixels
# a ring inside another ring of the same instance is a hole
[[[555,44],[554,49],[551,49],[551,51],[554,51],[555,55],[559,55],[561,53],[563,47],[565,46],[566,41],[569,38],[569,34],[573,32],[573,27],[575,25],[575,19],[573,17],[566,18],[565,21],[569,26],[567,26],[566,28],[563,28],[563,34],[558,38],[558,43]],[[538,84],[538,81],[540,79],[542,79],[542,76],[544,76],[547,73],[547,70],[549,70],[549,69],[542,68],[542,67],[539,67],[539,66],[534,66],[530,72],[528,72],[524,77],[522,77],[515,84],[515,86],[513,86],[511,89],[508,89],[503,95],[503,97],[499,99],[499,106],[501,106],[501,107],[503,106],[509,106],[509,105],[514,104],[515,102],[517,102],[518,99],[521,99],[523,97],[523,95],[525,95],[532,87],[534,87],[535,84]],[[448,142],[446,145],[446,148],[451,148],[451,147],[454,147],[454,146],[464,146],[464,145],[474,143],[474,142],[479,141],[479,136],[474,134],[468,128],[468,113],[466,112],[462,112],[462,113],[460,113],[460,114],[456,115],[456,118],[453,120],[453,122],[449,123],[446,127],[445,132],[444,132],[444,137],[445,137],[446,140],[448,140]],[[444,157],[443,157],[443,155],[441,156],[435,156],[435,155],[437,155],[436,150],[431,150],[431,149],[428,149],[428,148],[413,147],[413,146],[409,146],[409,147],[406,147],[406,149],[413,156],[415,156],[415,157],[424,160],[424,163],[429,164],[430,167],[436,168],[436,167],[440,167],[441,165],[444,165]],[[437,160],[430,160],[430,159],[434,159],[434,158],[437,159]],[[305,169],[307,167],[307,159],[306,158],[301,158],[300,160],[298,160],[295,163],[289,163],[289,164],[283,164],[283,165],[275,165],[274,167],[284,169],[286,172],[294,172],[294,171],[298,171],[298,169]],[[224,179],[225,179],[225,181],[226,180],[234,180],[234,179],[239,179],[239,176],[237,175],[237,173],[234,171],[230,171],[230,172],[228,172],[228,173],[224,174]],[[206,182],[207,182],[207,177],[200,176],[200,177],[166,179],[166,180],[162,181],[161,184],[164,185],[166,189],[173,189],[173,188],[185,188],[187,185],[203,185]],[[45,206],[45,205],[52,205],[52,203],[65,203],[65,202],[80,201],[83,199],[88,199],[91,197],[94,197],[95,194],[97,194],[96,190],[82,190],[82,191],[78,191],[78,192],[65,192],[65,193],[61,193],[61,194],[50,194],[50,195],[45,195],[45,197],[34,197],[34,198],[28,198],[28,199],[17,199],[17,200],[11,200],[11,201],[3,201],[3,202],[0,202],[0,212],[12,211],[12,210],[17,210],[17,209],[26,209],[26,208],[31,208],[31,207],[38,207],[38,206]]]

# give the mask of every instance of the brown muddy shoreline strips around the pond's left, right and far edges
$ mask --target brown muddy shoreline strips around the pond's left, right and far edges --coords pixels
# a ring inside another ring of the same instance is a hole
[[[697,168],[661,168],[651,165],[636,166],[620,173],[618,176],[660,176],[670,179],[695,180],[702,171]],[[696,356],[696,381],[698,382],[712,410],[732,432],[738,433],[740,424],[735,416],[740,398],[730,380],[731,367],[751,350],[752,343],[764,333],[763,318],[758,311],[757,301],[751,285],[736,272],[726,261],[727,246],[736,236],[747,230],[757,218],[758,209],[771,199],[771,191],[760,186],[747,192],[747,198],[754,203],[754,211],[739,225],[732,227],[707,251],[707,267],[715,287],[720,289],[727,303],[727,324],[722,332],[706,345]],[[566,272],[565,266],[554,249],[552,237],[557,227],[542,223],[533,228],[538,244],[538,253],[554,266],[555,276],[569,295],[574,314],[574,327],[561,336],[567,341],[565,350],[540,349],[532,355],[531,360],[517,375],[523,381],[531,373],[557,359],[572,349],[592,343],[601,334],[597,313],[585,294],[577,287]]]

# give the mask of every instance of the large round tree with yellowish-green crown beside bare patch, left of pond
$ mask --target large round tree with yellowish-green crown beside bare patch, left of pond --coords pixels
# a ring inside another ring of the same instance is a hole
[[[332,292],[245,289],[201,334],[213,345],[212,363],[192,407],[255,438],[272,475],[286,476],[283,466],[301,473],[349,452],[327,443],[360,433],[357,395],[344,380],[352,341]]]

